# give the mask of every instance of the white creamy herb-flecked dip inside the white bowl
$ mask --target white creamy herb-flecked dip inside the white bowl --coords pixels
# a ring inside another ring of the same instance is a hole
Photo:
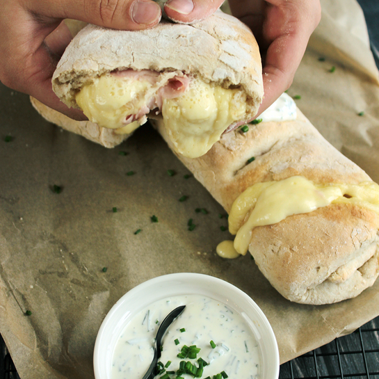
[[[201,357],[208,363],[201,378],[213,378],[223,371],[229,379],[260,378],[261,351],[257,342],[260,336],[250,318],[206,296],[186,295],[158,300],[131,318],[115,346],[112,379],[143,378],[152,362],[154,337],[160,323],[180,305],[186,305],[184,312],[163,337],[160,362],[166,365],[171,361],[167,371],[176,372],[182,360],[198,366],[197,359]],[[201,349],[196,359],[177,357],[184,345]],[[161,376],[163,373],[157,378]],[[193,378],[188,374],[181,376]],[[176,374],[170,375],[175,377]]]

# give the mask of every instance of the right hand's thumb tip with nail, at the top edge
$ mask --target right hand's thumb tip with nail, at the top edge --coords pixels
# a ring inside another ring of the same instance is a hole
[[[168,0],[165,11],[175,22],[190,24],[212,15],[224,0]]]

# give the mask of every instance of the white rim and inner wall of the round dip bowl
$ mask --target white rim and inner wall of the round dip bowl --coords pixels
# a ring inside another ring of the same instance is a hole
[[[261,350],[261,376],[277,379],[279,352],[270,323],[261,309],[243,291],[234,285],[209,275],[176,273],[155,277],[127,292],[104,318],[94,350],[96,379],[111,379],[112,357],[122,331],[142,309],[156,300],[177,295],[198,294],[213,298],[242,314],[252,329]],[[135,378],[138,379],[138,378]]]

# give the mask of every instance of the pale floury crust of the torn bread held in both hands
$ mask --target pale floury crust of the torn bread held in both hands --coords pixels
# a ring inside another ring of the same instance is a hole
[[[250,29],[217,11],[191,25],[163,21],[143,31],[118,31],[88,25],[72,40],[52,79],[56,95],[78,107],[76,92],[113,70],[154,70],[200,76],[248,95],[252,118],[263,96],[259,47]]]

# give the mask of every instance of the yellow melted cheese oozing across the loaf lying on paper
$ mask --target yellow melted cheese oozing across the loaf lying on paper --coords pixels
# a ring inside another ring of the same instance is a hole
[[[245,255],[255,227],[333,203],[356,204],[379,214],[379,186],[374,182],[314,184],[300,176],[255,184],[237,197],[229,213],[229,232],[236,234],[234,248]]]

